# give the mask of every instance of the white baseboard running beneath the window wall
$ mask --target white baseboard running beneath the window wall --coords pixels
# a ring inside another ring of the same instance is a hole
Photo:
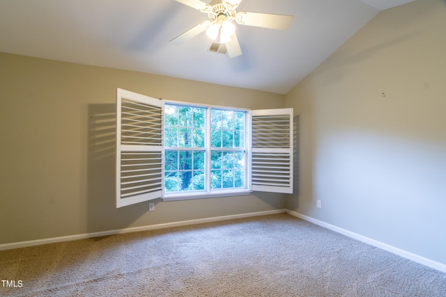
[[[199,218],[196,220],[182,220],[182,221],[173,222],[173,223],[164,223],[164,224],[148,225],[148,226],[141,226],[141,227],[131,227],[131,228],[125,228],[125,229],[119,229],[119,230],[109,230],[109,231],[77,234],[77,235],[70,235],[70,236],[52,237],[49,239],[37,239],[37,240],[20,241],[20,242],[14,242],[14,243],[3,243],[3,244],[0,244],[0,250],[11,250],[13,248],[26,248],[28,246],[40,246],[42,244],[47,244],[47,243],[73,241],[73,240],[88,239],[88,238],[98,237],[98,236],[108,236],[108,235],[114,235],[114,234],[156,230],[156,229],[162,229],[162,228],[168,228],[168,227],[178,227],[178,226],[195,225],[195,224],[201,224],[201,223],[218,222],[221,220],[233,220],[236,218],[249,218],[252,216],[266,216],[269,214],[282,214],[284,212],[286,212],[285,209],[275,209],[275,210],[270,210],[270,211],[251,212],[251,213],[247,213],[247,214],[233,214],[230,216],[216,216],[213,218]]]

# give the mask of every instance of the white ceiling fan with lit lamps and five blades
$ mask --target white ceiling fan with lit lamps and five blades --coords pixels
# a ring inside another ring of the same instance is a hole
[[[180,45],[194,36],[199,35],[199,33],[206,31],[208,37],[215,40],[210,49],[215,49],[215,45],[217,45],[217,48],[223,47],[220,52],[227,51],[231,58],[242,54],[242,49],[240,49],[238,43],[237,35],[235,33],[236,27],[233,25],[233,21],[236,21],[236,23],[240,25],[279,30],[288,29],[289,26],[291,26],[291,22],[293,22],[292,15],[238,13],[236,9],[242,0],[213,0],[210,1],[209,4],[200,0],[176,1],[195,8],[201,11],[201,13],[207,13],[209,19],[206,19],[192,29],[178,35],[176,38],[170,40],[170,42]]]

